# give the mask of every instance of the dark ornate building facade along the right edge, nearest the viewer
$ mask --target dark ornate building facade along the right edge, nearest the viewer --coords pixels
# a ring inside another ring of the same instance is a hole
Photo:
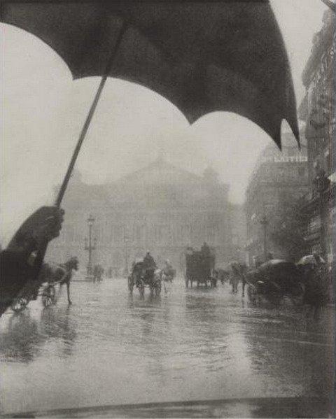
[[[302,208],[309,213],[305,239],[311,253],[322,253],[330,262],[335,260],[336,227],[335,39],[335,12],[326,10],[302,73],[307,94],[300,106],[300,118],[306,122],[310,186]]]

